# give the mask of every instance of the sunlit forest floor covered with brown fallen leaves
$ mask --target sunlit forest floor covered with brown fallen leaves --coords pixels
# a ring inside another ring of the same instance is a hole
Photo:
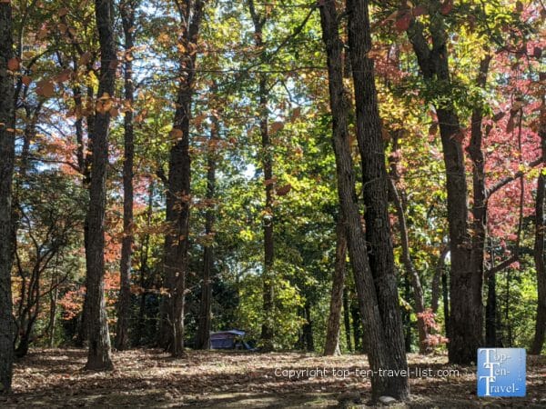
[[[445,355],[410,354],[409,361],[410,402],[391,407],[546,408],[544,356],[528,357],[525,398],[478,398],[476,368],[450,366]],[[147,349],[115,353],[116,369],[108,373],[84,371],[85,363],[83,349],[31,350],[15,364],[14,394],[0,397],[0,406],[369,407],[364,355],[189,351],[187,358],[173,359]],[[309,373],[317,368],[322,372]],[[302,372],[289,379],[283,372],[289,369]],[[359,394],[360,403],[351,403]]]

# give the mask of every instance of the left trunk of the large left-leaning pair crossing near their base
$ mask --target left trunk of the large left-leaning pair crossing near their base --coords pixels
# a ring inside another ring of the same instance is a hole
[[[326,53],[329,71],[329,103],[332,115],[332,139],[336,156],[336,175],[338,181],[339,205],[341,214],[348,224],[348,248],[349,257],[355,275],[355,284],[359,294],[359,307],[362,313],[362,322],[366,337],[366,349],[368,350],[369,364],[372,370],[379,368],[398,368],[399,358],[405,361],[403,351],[403,339],[398,314],[392,322],[388,317],[381,320],[379,314],[378,294],[374,284],[374,278],[369,268],[366,236],[360,221],[359,205],[355,191],[355,178],[350,155],[349,131],[347,124],[348,102],[343,86],[342,49],[343,44],[339,38],[339,20],[336,5],[332,1],[324,2],[319,6],[320,23],[322,26],[322,38],[326,45]],[[352,55],[352,50],[351,50]],[[386,181],[386,180],[385,180]],[[389,226],[389,224],[387,224]],[[396,285],[394,286],[396,292]],[[395,297],[398,300],[398,295]],[[395,300],[391,300],[395,302]],[[394,331],[399,332],[399,339],[392,339],[386,333],[393,333],[393,326],[400,327]],[[385,331],[386,328],[387,330]],[[392,354],[393,344],[400,348],[401,356]],[[405,367],[406,365],[404,365]],[[397,399],[405,399],[409,394],[407,378],[372,377],[372,395],[374,399],[381,395],[393,396]]]

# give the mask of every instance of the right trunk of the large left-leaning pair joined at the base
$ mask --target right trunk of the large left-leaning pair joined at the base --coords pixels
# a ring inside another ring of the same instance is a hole
[[[366,212],[366,241],[369,243],[369,267],[379,303],[389,368],[408,367],[399,310],[397,277],[390,238],[389,176],[385,165],[385,146],[379,117],[369,24],[369,1],[347,0],[349,13],[349,49],[355,88],[357,140],[362,165],[362,184]],[[368,247],[366,247],[368,248]],[[393,396],[406,398],[408,378],[389,377],[387,388]]]

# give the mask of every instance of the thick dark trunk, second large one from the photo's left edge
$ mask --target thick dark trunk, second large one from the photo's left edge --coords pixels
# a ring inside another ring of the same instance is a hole
[[[96,26],[100,43],[100,78],[96,102],[95,129],[91,148],[93,165],[89,185],[89,208],[86,214],[86,301],[88,307],[89,352],[86,369],[110,370],[110,334],[105,302],[105,213],[106,171],[108,166],[108,103],[114,96],[116,82],[116,44],[114,5],[111,0],[96,0]],[[102,98],[102,99],[101,99]]]

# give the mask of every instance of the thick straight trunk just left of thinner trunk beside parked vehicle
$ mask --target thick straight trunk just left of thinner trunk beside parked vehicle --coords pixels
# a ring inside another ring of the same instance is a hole
[[[167,181],[167,224],[170,231],[165,238],[165,270],[169,288],[167,328],[163,344],[175,357],[184,355],[184,307],[186,304],[186,276],[189,264],[189,211],[191,201],[191,158],[189,155],[189,118],[194,94],[199,27],[205,2],[186,2],[180,8],[180,21],[184,35],[180,39],[186,50],[180,55],[177,109],[172,137],[176,139],[170,151]]]

